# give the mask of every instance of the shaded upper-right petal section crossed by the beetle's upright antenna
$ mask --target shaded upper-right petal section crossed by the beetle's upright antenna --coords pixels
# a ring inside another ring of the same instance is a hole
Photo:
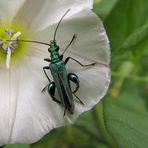
[[[49,26],[36,34],[35,39],[49,42],[53,39],[55,26]],[[89,9],[64,19],[58,28],[57,43],[64,49],[76,34],[76,39],[69,47],[71,51],[100,64],[110,63],[109,41],[101,20]]]

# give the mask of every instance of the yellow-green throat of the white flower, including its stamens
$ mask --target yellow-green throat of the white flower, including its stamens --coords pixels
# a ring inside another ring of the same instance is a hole
[[[19,42],[18,39],[29,40],[33,34],[23,22],[6,24],[0,21],[0,68],[17,68],[18,65],[26,63],[26,58],[32,51],[32,44]]]

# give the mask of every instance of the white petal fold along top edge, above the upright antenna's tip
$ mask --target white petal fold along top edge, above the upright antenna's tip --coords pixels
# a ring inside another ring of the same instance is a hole
[[[26,0],[15,20],[27,22],[33,29],[43,29],[57,23],[68,9],[71,11],[66,17],[79,12],[84,7],[92,8],[92,5],[93,0]]]

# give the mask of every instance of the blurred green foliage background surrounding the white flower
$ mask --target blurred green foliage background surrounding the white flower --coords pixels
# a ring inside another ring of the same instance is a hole
[[[76,123],[32,145],[5,148],[148,147],[148,0],[95,0],[112,51],[107,96]]]

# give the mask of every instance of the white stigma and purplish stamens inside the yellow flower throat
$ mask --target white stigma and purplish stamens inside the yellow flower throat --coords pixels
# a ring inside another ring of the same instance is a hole
[[[6,44],[5,41],[0,39],[0,46],[1,46],[2,50],[7,54],[6,68],[9,68],[10,67],[10,60],[11,60],[11,53],[13,53],[16,48],[18,48],[17,39],[21,35],[21,32],[14,33],[14,31],[12,29],[6,29],[5,33],[8,35],[10,42]]]

